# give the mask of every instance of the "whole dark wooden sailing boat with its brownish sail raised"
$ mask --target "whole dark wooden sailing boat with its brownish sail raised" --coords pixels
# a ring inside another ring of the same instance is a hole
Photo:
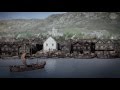
[[[10,72],[24,72],[24,71],[31,71],[31,70],[37,70],[37,69],[42,69],[46,65],[46,62],[41,62],[41,63],[36,63],[36,64],[30,64],[27,65],[26,63],[26,53],[23,53],[21,56],[22,63],[24,65],[15,65],[15,66],[9,66]]]

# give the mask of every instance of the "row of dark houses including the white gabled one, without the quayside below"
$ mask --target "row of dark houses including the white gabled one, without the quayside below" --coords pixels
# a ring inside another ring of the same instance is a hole
[[[120,57],[120,41],[119,40],[97,40],[97,39],[81,39],[81,40],[66,40],[57,42],[54,38],[49,37],[42,41],[22,40],[16,42],[0,42],[0,56],[20,56],[26,52],[29,56],[37,51],[43,53],[64,52],[71,56],[87,56],[94,55],[95,57]]]

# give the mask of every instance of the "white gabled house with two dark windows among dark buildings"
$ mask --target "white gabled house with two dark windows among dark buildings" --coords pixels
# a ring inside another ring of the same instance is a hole
[[[52,37],[49,37],[43,44],[43,50],[46,52],[57,50],[57,42]]]

